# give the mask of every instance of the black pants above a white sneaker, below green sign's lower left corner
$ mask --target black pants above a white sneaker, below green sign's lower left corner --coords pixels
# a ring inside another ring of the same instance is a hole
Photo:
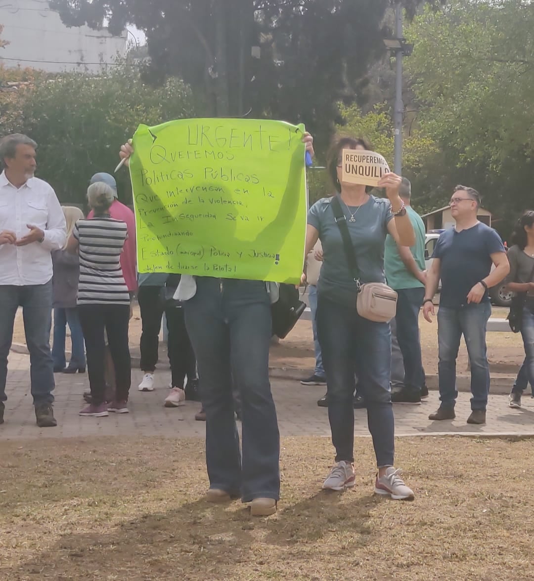
[[[160,286],[140,286],[137,301],[141,311],[141,370],[153,373],[158,363],[159,330],[163,305],[159,299]]]

